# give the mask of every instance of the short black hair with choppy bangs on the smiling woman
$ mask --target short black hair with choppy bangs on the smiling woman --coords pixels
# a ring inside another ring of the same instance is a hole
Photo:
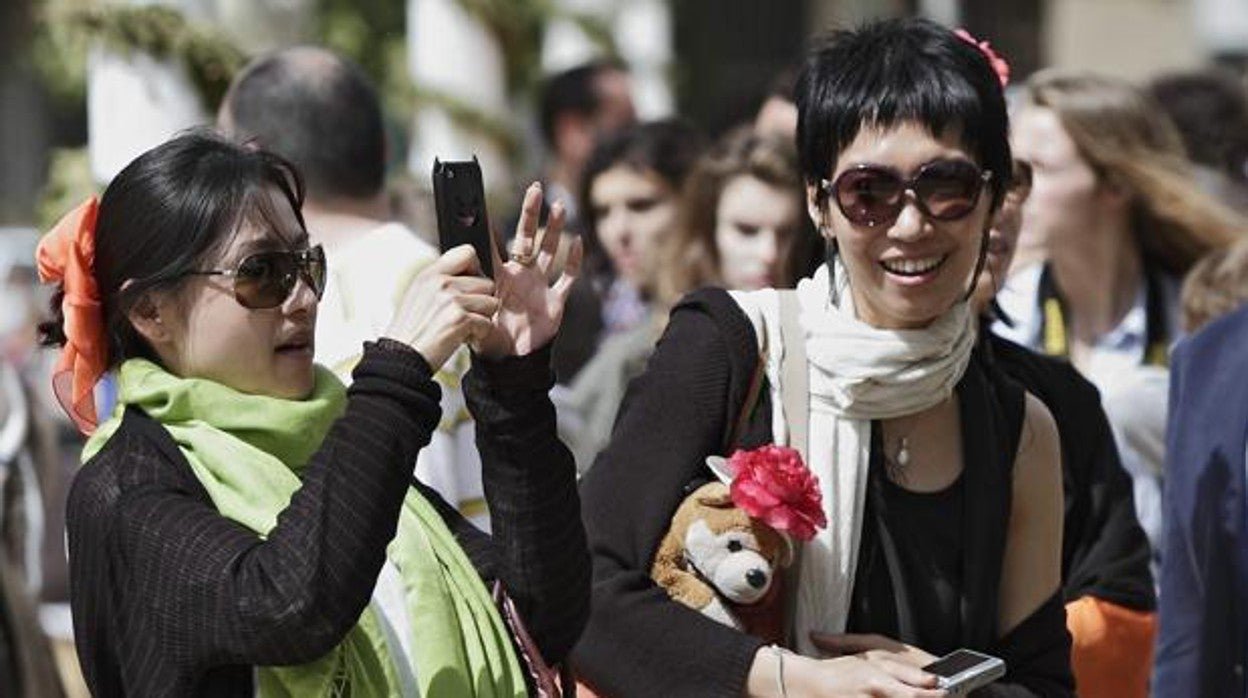
[[[862,126],[905,121],[942,135],[957,129],[992,171],[992,209],[1010,186],[1010,120],[988,59],[948,29],[895,19],[835,31],[807,54],[797,76],[797,155],[807,185],[831,176]]]

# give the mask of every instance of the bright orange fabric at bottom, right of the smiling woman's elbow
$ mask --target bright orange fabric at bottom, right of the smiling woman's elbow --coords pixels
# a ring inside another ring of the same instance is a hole
[[[1153,673],[1157,613],[1099,598],[1066,604],[1071,667],[1081,698],[1144,698]]]

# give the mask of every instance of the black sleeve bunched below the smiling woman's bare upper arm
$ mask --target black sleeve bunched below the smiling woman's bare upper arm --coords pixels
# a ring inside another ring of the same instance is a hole
[[[1071,673],[1071,634],[1066,631],[1066,606],[1055,593],[1010,634],[992,654],[1006,663],[1006,676],[975,692],[982,698],[1056,698],[1075,696]]]

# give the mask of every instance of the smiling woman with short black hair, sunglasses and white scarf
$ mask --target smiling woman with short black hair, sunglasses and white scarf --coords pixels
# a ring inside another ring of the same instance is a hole
[[[1072,693],[1056,428],[978,357],[967,306],[1010,184],[1007,70],[924,20],[810,52],[797,150],[829,263],[789,296],[704,290],[673,312],[583,481],[590,688],[935,697],[921,668],[965,647],[1006,661],[983,694]],[[784,649],[649,578],[706,457],[765,443],[802,452],[829,523],[799,551]]]

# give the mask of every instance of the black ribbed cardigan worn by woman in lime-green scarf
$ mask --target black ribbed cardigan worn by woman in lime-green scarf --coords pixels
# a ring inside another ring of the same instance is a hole
[[[558,662],[588,613],[589,559],[549,360],[474,360],[464,380],[494,537],[421,489]],[[267,539],[222,517],[168,432],[127,410],[69,501],[74,632],[94,696],[252,696],[253,666],[310,662],[342,641],[441,413],[428,365],[403,345],[366,345],[353,376]]]

